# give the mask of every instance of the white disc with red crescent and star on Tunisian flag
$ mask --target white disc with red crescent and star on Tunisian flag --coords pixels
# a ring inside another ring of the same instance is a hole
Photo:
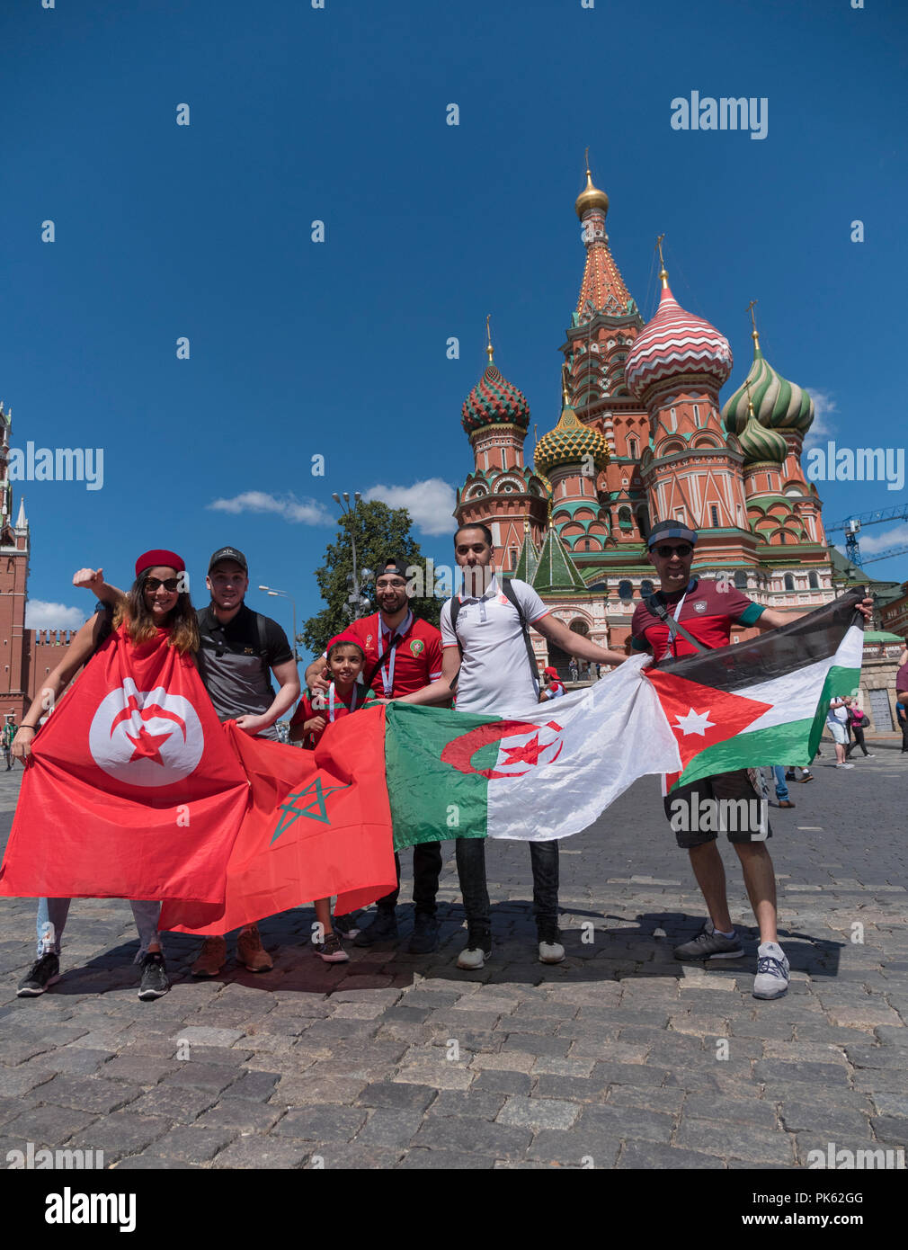
[[[131,678],[97,706],[89,750],[117,781],[164,786],[182,781],[202,758],[205,735],[192,704],[157,686],[137,690]]]

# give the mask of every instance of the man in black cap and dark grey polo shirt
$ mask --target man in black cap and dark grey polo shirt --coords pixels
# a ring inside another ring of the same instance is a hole
[[[254,612],[244,602],[249,589],[246,556],[236,548],[221,548],[209,561],[205,585],[211,594],[199,609],[199,671],[220,720],[235,720],[254,738],[277,741],[275,722],[300,698],[300,675],[287,635],[270,616]],[[279,690],[271,685],[274,672]],[[236,954],[252,972],[272,966],[257,925],[245,925],[236,939]],[[216,976],[227,955],[224,938],[206,938],[194,976]]]

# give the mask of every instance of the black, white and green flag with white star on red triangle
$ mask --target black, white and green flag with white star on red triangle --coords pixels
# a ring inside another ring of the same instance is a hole
[[[809,764],[829,701],[861,685],[863,598],[863,588],[848,591],[749,642],[651,669],[681,755],[667,789],[734,769]]]

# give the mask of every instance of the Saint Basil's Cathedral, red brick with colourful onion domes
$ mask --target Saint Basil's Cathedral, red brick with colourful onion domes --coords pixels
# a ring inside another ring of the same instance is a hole
[[[531,469],[530,408],[493,362],[490,338],[488,365],[462,408],[475,469],[457,491],[457,524],[487,525],[496,568],[603,646],[623,648],[641,588],[658,586],[646,538],[662,520],[698,531],[696,574],[724,575],[757,602],[798,615],[828,602],[837,591],[822,504],[801,468],[813,400],[766,360],[754,322],[751,370],[719,405],[728,341],[681,308],[664,265],[658,310],[644,324],[590,169],[576,211],[586,265],[561,346],[561,418]],[[566,674],[560,649],[533,642],[540,661]]]

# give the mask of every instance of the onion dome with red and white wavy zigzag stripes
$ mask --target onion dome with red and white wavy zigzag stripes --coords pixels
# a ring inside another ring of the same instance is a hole
[[[663,282],[656,316],[637,335],[624,361],[624,378],[643,400],[659,382],[683,374],[722,386],[732,371],[728,340],[703,318],[686,312]]]

